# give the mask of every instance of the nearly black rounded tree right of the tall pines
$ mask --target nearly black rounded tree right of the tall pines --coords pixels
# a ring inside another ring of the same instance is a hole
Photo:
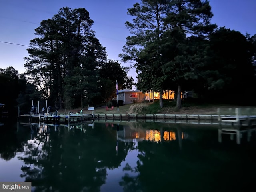
[[[209,39],[208,60],[200,68],[200,76],[210,90],[208,97],[211,94],[222,101],[234,99],[236,103],[239,98],[245,103],[245,93],[253,90],[252,44],[240,32],[226,28],[219,28]]]

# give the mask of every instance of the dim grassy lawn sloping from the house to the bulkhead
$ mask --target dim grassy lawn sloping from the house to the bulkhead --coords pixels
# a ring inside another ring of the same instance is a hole
[[[217,109],[220,108],[221,114],[235,114],[235,108],[241,108],[242,115],[250,114],[256,115],[256,107],[255,106],[238,106],[238,105],[228,105],[228,104],[202,104],[196,102],[182,102],[182,108],[180,110],[176,110],[175,102],[164,100],[164,107],[160,109],[159,101],[156,100],[152,103],[144,103],[147,106],[147,114],[217,114]],[[119,110],[117,107],[114,107],[113,110],[106,110],[106,108],[97,108],[95,107],[94,114],[128,114],[130,106],[134,104],[127,104],[124,106],[119,106]],[[76,108],[73,110],[66,110],[70,112],[78,112],[81,108]],[[59,113],[64,113],[64,110],[59,110]],[[83,109],[83,113],[91,114],[92,111],[87,110],[87,108]]]

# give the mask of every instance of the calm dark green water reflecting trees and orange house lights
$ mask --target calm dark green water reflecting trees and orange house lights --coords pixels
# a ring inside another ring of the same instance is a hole
[[[0,130],[0,181],[32,181],[32,191],[255,190],[255,132],[237,144],[196,124],[5,122]]]

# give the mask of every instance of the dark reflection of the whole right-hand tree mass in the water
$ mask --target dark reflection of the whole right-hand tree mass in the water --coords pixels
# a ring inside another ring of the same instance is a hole
[[[183,140],[182,148],[178,140],[138,142],[137,166],[126,165],[123,169],[120,185],[124,192],[249,191],[254,186],[256,177],[245,177],[256,170],[256,158],[247,151],[249,145],[246,150],[236,144],[225,147],[212,139],[209,130],[197,130],[194,134],[201,138]],[[255,150],[255,146],[250,144],[250,150]],[[132,170],[138,175],[134,176]]]

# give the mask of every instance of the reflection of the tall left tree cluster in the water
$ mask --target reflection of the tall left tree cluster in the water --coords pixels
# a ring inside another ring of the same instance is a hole
[[[120,166],[130,146],[119,142],[118,155],[115,147],[116,131],[100,125],[83,131],[48,126],[24,145],[22,176],[36,191],[100,191],[106,169]]]

